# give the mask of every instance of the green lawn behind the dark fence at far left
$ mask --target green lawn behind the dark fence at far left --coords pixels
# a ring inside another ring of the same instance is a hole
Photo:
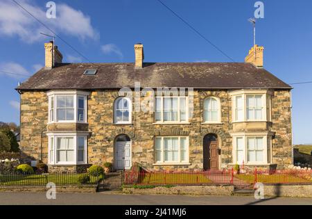
[[[80,184],[78,177],[83,174],[51,175],[0,175],[0,186],[42,186],[48,182],[58,185]],[[97,177],[90,176],[89,184],[96,184]]]

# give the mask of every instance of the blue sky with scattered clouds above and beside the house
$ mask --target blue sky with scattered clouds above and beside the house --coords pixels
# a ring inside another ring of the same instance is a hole
[[[56,19],[45,17],[46,2],[17,0],[93,62],[133,62],[133,44],[144,44],[148,62],[229,62],[157,0],[55,1]],[[256,1],[162,0],[236,62],[252,47]],[[312,1],[263,1],[257,44],[265,47],[264,65],[286,83],[312,81]],[[44,65],[49,33],[11,0],[0,0],[0,121],[19,123],[18,81]],[[86,62],[56,39],[64,62]],[[294,86],[293,140],[312,143],[312,83]]]

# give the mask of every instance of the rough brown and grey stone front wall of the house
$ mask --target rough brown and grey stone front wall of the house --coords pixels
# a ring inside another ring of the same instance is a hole
[[[284,168],[292,163],[291,92],[272,90],[272,122],[243,125],[248,131],[272,131],[272,163]],[[135,96],[135,95],[133,95]],[[206,97],[220,99],[221,123],[203,124],[202,106]],[[114,124],[114,100],[118,90],[94,90],[87,100],[88,124],[47,124],[48,97],[45,92],[21,93],[21,150],[24,158],[42,159],[47,162],[48,138],[46,131],[89,131],[87,161],[89,164],[114,163],[114,140],[126,134],[132,142],[132,163],[140,163],[148,169],[202,169],[203,138],[208,133],[218,136],[220,148],[219,169],[232,163],[232,98],[228,90],[194,90],[193,117],[188,124],[154,124],[154,113],[132,112],[132,124]],[[141,97],[142,100],[144,97]],[[132,108],[135,108],[134,104]],[[237,124],[235,124],[237,126]],[[251,126],[251,127],[250,127]],[[256,127],[253,129],[253,127]],[[189,136],[190,165],[153,165],[155,136]],[[62,171],[81,170],[79,167],[59,167]],[[51,170],[58,167],[50,167]]]

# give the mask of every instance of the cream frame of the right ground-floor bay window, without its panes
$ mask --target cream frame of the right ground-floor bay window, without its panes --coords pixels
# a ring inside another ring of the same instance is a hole
[[[237,157],[237,138],[243,138],[243,162],[245,165],[268,165],[272,163],[272,135],[271,133],[237,133],[232,136],[233,149],[232,149],[232,157],[233,164],[238,163],[241,165],[242,163],[238,162]],[[263,161],[248,161],[248,138],[263,138]]]

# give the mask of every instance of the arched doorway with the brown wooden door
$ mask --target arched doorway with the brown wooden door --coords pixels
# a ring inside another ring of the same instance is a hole
[[[209,133],[204,137],[203,168],[204,170],[218,170],[218,136]]]

